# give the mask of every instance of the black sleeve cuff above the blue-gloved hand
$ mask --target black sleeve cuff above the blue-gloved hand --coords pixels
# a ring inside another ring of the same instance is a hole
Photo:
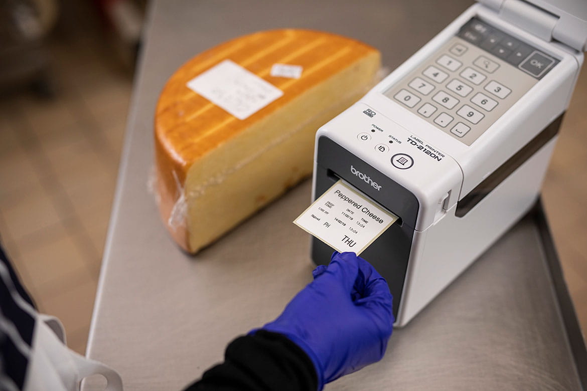
[[[285,335],[259,330],[227,346],[224,363],[185,391],[315,391],[316,370],[308,355]]]

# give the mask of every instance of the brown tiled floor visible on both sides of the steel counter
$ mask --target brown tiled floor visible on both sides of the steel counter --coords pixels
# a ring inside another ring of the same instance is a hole
[[[42,311],[84,352],[131,79],[96,40],[52,43],[58,97],[0,100],[0,234]],[[587,70],[544,185],[551,229],[587,330]]]

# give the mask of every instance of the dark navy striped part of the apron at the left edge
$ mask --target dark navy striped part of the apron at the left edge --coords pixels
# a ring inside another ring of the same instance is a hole
[[[36,310],[0,246],[0,390],[21,390],[29,359]]]

